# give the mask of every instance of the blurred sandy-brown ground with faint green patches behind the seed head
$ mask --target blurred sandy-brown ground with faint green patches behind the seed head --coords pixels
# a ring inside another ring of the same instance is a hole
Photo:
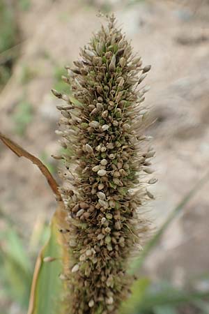
[[[59,100],[50,89],[68,91],[64,66],[105,22],[99,10],[116,13],[134,51],[152,65],[146,105],[155,120],[148,135],[157,151],[158,183],[148,211],[157,228],[208,171],[208,0],[0,0],[1,132],[38,156],[59,181],[59,163],[51,158],[60,151],[54,133]],[[209,298],[194,297],[194,291],[209,291],[208,188],[167,228],[141,271],[155,296],[175,290],[192,297],[158,297],[136,313],[209,313]],[[0,312],[26,313],[34,260],[56,202],[36,167],[1,143],[0,195]]]

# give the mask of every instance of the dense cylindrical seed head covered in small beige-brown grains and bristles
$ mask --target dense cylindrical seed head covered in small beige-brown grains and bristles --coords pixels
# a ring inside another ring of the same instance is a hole
[[[144,135],[148,89],[139,88],[150,66],[142,66],[115,18],[81,50],[68,69],[72,96],[61,110],[70,261],[68,314],[117,313],[130,292],[127,263],[149,230],[141,205],[155,179]],[[71,100],[72,102],[71,102]]]

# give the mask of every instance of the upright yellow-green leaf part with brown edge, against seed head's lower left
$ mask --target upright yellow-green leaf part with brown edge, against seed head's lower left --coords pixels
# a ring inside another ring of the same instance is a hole
[[[59,275],[63,273],[63,265],[68,259],[65,234],[59,232],[64,217],[65,211],[61,203],[52,217],[49,241],[40,251],[36,261],[28,314],[62,313],[65,285]],[[52,262],[46,262],[50,258]]]

